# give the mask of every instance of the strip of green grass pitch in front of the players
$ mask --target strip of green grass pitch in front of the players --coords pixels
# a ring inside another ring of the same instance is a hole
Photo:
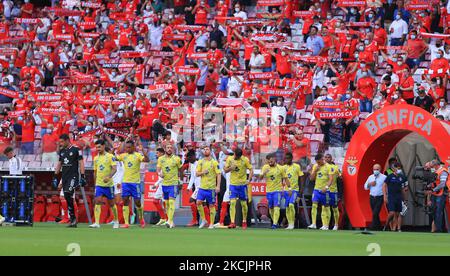
[[[39,223],[0,227],[0,255],[62,255],[79,245],[85,255],[450,255],[450,235],[284,229],[78,229]],[[75,245],[73,245],[75,244]],[[374,245],[375,244],[375,245]],[[379,247],[378,247],[379,246]]]

